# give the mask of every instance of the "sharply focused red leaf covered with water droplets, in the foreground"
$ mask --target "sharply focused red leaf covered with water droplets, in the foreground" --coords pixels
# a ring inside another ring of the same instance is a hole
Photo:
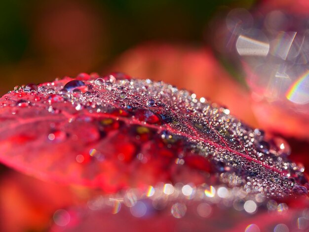
[[[162,82],[114,75],[66,77],[4,95],[0,160],[106,192],[212,184],[214,175],[205,175],[211,170],[248,193],[283,196],[295,186],[296,194],[306,193],[298,186],[307,182],[303,170],[227,109]],[[181,175],[188,168],[196,175]]]

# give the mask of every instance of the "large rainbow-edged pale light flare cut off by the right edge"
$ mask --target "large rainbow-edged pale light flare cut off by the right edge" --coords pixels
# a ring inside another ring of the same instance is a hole
[[[288,100],[297,104],[309,102],[309,71],[291,85],[285,96]]]

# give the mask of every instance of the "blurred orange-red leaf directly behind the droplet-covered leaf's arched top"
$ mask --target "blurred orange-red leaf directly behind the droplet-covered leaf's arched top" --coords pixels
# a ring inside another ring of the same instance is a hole
[[[193,90],[198,96],[224,104],[233,115],[257,126],[249,91],[225,71],[210,47],[147,42],[122,53],[112,70]]]

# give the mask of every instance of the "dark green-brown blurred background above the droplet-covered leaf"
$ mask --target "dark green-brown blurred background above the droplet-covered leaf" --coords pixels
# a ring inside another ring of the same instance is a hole
[[[212,17],[255,0],[1,0],[0,94],[15,85],[108,70],[144,41],[202,46]],[[224,15],[223,15],[224,16]]]

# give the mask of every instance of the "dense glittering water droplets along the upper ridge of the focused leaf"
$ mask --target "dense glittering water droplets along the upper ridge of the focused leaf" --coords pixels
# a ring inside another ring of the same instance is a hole
[[[196,99],[194,93],[170,84],[109,75],[68,83],[55,80],[39,87],[16,86],[14,91],[46,96],[49,102],[46,109],[53,114],[57,113],[53,108],[53,102],[57,101],[71,102],[77,111],[99,114],[111,112],[115,107],[133,111],[147,109],[160,117],[161,123],[156,128],[162,139],[186,141],[184,149],[207,157],[223,183],[229,187],[240,186],[247,193],[285,196],[292,194],[294,188],[302,191],[305,187],[300,185],[307,182],[302,174],[304,168],[286,158],[290,153],[288,144],[278,145],[276,138],[265,141],[263,131],[243,124],[227,108],[203,97]],[[16,103],[23,104],[31,106],[39,102]],[[134,119],[133,114],[132,124]]]

